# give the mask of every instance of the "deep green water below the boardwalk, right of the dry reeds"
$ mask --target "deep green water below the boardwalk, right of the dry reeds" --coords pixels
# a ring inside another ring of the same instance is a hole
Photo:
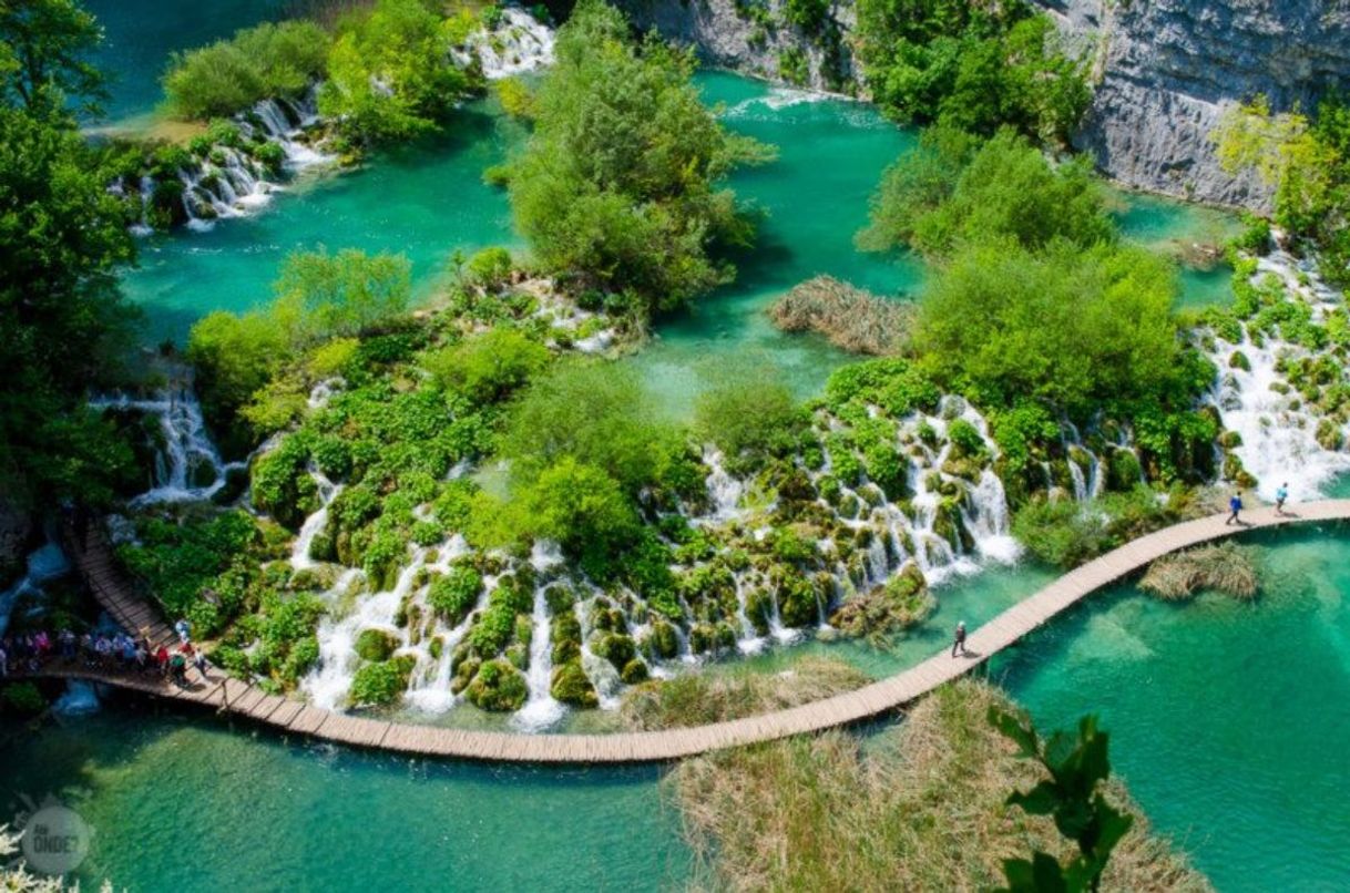
[[[1057,621],[994,674],[1042,727],[1098,712],[1115,768],[1220,890],[1350,878],[1350,534],[1260,536],[1256,604],[1164,604],[1125,587]]]

